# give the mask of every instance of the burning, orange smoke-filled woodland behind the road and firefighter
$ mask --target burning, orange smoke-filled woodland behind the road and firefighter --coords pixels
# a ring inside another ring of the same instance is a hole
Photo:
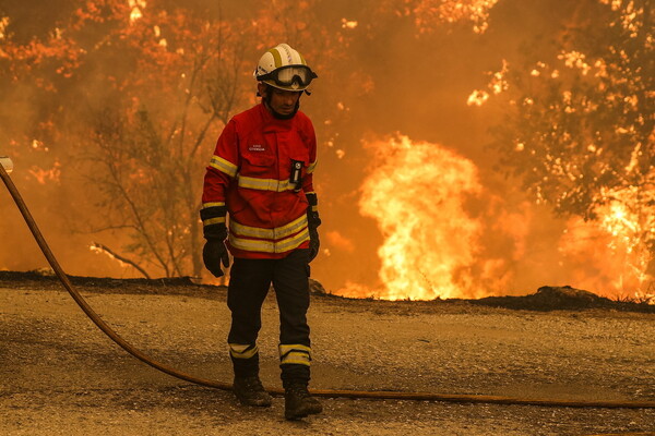
[[[301,108],[322,141],[326,289],[653,295],[650,1],[352,3],[0,5],[0,155],[67,269],[203,274],[204,168],[257,101],[253,59],[286,41],[320,77]],[[0,268],[37,268],[9,249],[25,238],[10,208]]]

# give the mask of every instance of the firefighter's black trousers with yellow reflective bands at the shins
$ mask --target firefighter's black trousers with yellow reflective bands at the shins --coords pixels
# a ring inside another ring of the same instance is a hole
[[[281,259],[235,258],[230,269],[227,305],[231,311],[231,328],[227,341],[236,376],[254,375],[259,371],[257,337],[262,326],[261,308],[273,284],[279,310],[279,343],[306,353],[306,362],[282,361],[282,378],[309,380],[309,251],[296,250]],[[250,352],[235,352],[234,344]],[[287,347],[288,348],[288,347]],[[282,359],[282,358],[281,358]]]

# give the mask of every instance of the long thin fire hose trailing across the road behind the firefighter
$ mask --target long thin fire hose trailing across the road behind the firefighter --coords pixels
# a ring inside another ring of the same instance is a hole
[[[105,323],[100,316],[91,307],[91,305],[84,300],[84,298],[73,288],[68,276],[57,262],[57,258],[52,254],[48,243],[43,237],[38,229],[36,221],[32,217],[29,209],[23,201],[19,190],[11,180],[8,170],[11,171],[11,160],[8,158],[0,157],[0,178],[4,182],[9,193],[13,201],[19,207],[21,215],[23,216],[29,231],[34,235],[39,249],[46,256],[46,259],[52,267],[52,270],[82,308],[82,311],[91,318],[91,320],[114,342],[130,353],[132,356],[139,359],[143,363],[163,372],[170,376],[179,379],[190,382],[196,385],[231,390],[231,384],[210,380],[205,378],[195,377],[160,362],[151,359],[132,344],[122,339],[107,323]],[[279,388],[267,389],[273,395],[282,395],[284,391]],[[384,391],[384,390],[311,390],[311,393],[318,397],[329,398],[353,398],[353,399],[384,399],[384,400],[416,400],[416,401],[444,401],[444,402],[462,402],[462,403],[496,403],[496,404],[525,404],[525,405],[541,405],[541,407],[567,407],[567,408],[627,408],[627,409],[655,409],[655,401],[595,401],[595,400],[565,400],[565,399],[529,399],[529,398],[512,398],[501,396],[484,396],[484,395],[451,395],[451,393],[432,393],[432,392],[403,392],[403,391]]]

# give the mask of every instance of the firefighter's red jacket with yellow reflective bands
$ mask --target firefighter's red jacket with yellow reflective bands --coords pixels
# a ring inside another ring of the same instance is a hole
[[[293,161],[301,162],[301,185],[289,182]],[[315,134],[305,113],[278,120],[260,104],[235,116],[207,167],[203,225],[225,222],[221,214],[206,211],[227,206],[235,257],[281,258],[308,247],[307,194],[315,198]]]

